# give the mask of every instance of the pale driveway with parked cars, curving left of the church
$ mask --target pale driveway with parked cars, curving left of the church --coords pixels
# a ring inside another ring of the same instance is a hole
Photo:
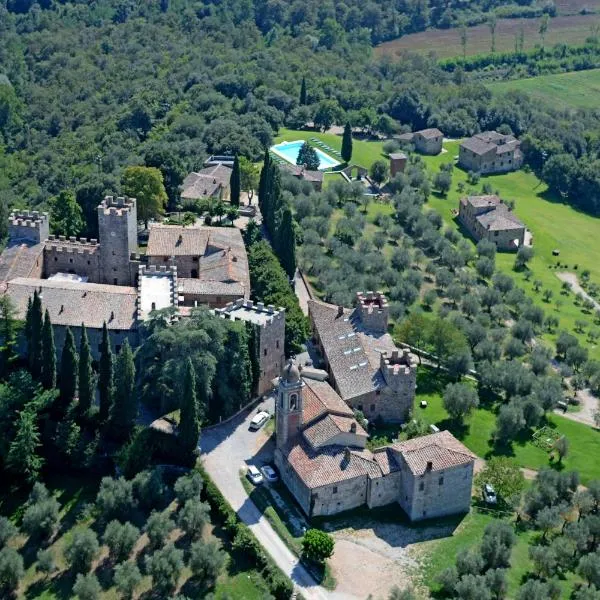
[[[262,409],[273,413],[273,399],[263,402]],[[351,596],[330,593],[318,586],[299,563],[296,556],[281,541],[263,514],[248,498],[239,478],[240,469],[249,464],[271,462],[273,443],[263,431],[249,431],[248,426],[257,409],[242,413],[232,421],[202,431],[200,451],[207,472],[227,498],[240,519],[246,523],[263,548],[281,570],[294,582],[308,600],[350,600]]]

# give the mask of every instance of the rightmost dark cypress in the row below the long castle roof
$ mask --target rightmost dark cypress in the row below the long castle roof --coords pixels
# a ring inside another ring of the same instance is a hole
[[[116,436],[124,439],[129,436],[138,415],[138,401],[135,394],[135,365],[129,341],[125,340],[115,364],[114,399],[110,410],[111,429]]]

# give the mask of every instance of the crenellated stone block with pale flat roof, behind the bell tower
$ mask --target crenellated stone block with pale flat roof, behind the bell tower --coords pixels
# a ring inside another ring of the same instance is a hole
[[[285,309],[256,304],[250,300],[236,300],[216,309],[215,314],[224,319],[241,320],[252,323],[258,332],[258,362],[260,377],[257,393],[264,394],[273,388],[276,379],[285,363]]]

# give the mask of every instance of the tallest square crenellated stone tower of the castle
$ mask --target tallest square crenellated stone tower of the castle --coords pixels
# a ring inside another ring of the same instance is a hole
[[[100,280],[111,285],[133,285],[130,265],[137,253],[137,204],[135,198],[106,196],[98,206],[98,231],[102,244]]]

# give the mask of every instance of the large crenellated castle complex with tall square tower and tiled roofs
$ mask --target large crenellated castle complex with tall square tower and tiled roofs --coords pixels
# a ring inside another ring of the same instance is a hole
[[[248,259],[238,229],[154,224],[144,255],[134,198],[107,196],[97,213],[98,240],[51,235],[47,213],[10,216],[0,293],[23,320],[38,292],[59,353],[67,327],[77,341],[85,325],[97,358],[104,323],[118,351],[126,338],[139,343],[139,326],[153,310],[171,307],[185,316],[200,304],[218,308],[248,297]]]

